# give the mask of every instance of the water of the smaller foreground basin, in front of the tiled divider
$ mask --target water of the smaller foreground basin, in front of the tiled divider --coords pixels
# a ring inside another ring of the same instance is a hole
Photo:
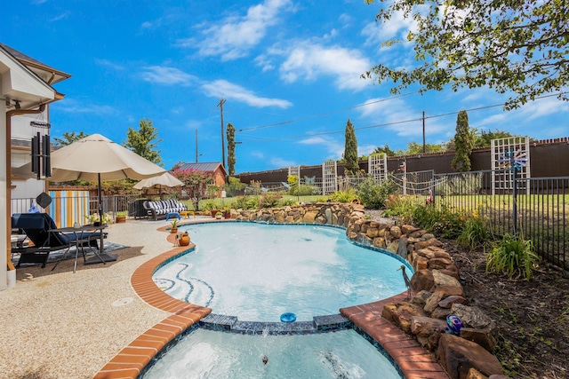
[[[267,364],[262,361],[268,358]],[[246,336],[198,328],[148,370],[157,378],[401,378],[354,330]]]

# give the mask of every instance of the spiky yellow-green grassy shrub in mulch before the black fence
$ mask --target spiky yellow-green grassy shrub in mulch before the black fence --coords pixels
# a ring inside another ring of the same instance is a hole
[[[533,252],[533,242],[521,236],[504,235],[486,254],[486,272],[501,272],[512,279],[520,276],[530,280],[532,268],[539,262]]]

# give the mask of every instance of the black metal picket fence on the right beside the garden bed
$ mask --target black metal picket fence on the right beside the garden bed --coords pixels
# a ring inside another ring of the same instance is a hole
[[[569,270],[569,178],[511,178],[495,189],[501,171],[435,175],[432,199],[439,208],[476,213],[497,235],[521,233],[552,265]],[[494,178],[494,182],[493,182]],[[494,188],[494,189],[493,189]],[[428,191],[422,193],[426,198]]]

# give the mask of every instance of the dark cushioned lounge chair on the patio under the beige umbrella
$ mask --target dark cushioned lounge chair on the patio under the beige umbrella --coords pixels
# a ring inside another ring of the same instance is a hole
[[[12,248],[12,253],[20,253],[20,260],[16,267],[22,264],[41,264],[45,267],[47,259],[52,251],[68,249],[72,246],[99,248],[97,239],[100,232],[95,233],[61,233],[56,231],[57,225],[47,213],[14,213],[12,215],[12,228],[21,229],[26,233],[26,238],[32,243],[24,246],[20,243]],[[95,238],[97,237],[97,238]]]

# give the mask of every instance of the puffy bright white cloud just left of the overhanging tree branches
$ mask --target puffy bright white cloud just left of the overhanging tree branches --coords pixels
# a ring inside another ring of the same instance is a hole
[[[276,52],[276,51],[273,51]],[[358,50],[325,47],[317,43],[294,43],[280,67],[281,77],[288,83],[301,79],[314,81],[321,76],[332,76],[340,90],[362,90],[371,85],[360,77],[371,66],[369,59]]]

